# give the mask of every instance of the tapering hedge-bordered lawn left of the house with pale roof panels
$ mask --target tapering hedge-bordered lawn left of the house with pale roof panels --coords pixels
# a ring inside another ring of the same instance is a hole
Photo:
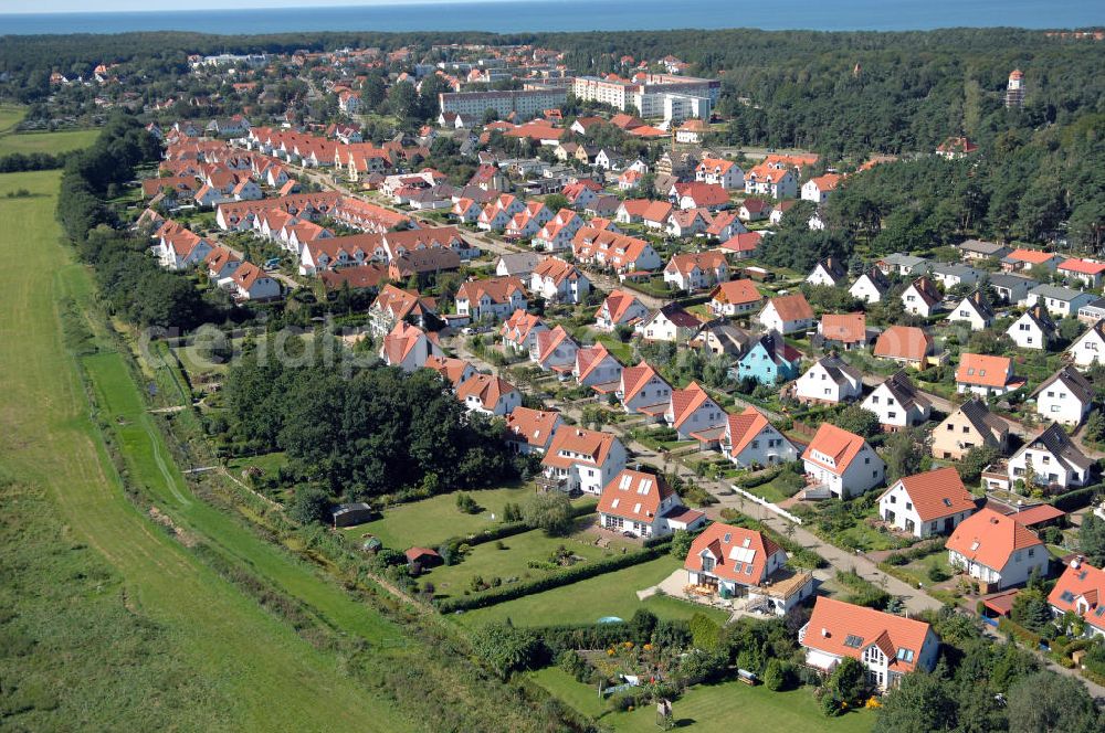
[[[696,613],[705,613],[717,622],[725,622],[727,614],[678,598],[653,596],[644,602],[638,599],[638,591],[660,583],[681,565],[674,557],[657,557],[617,573],[607,573],[524,598],[477,608],[454,618],[465,626],[480,626],[505,618],[518,626],[593,624],[604,616],[629,619],[633,612],[644,607],[661,618],[691,618]]]

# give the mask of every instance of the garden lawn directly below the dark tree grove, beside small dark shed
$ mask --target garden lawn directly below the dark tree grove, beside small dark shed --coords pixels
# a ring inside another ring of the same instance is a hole
[[[422,501],[385,509],[380,519],[348,527],[345,533],[359,539],[372,534],[387,548],[407,550],[410,546],[436,548],[443,541],[462,534],[475,534],[502,522],[503,506],[508,501],[523,504],[534,493],[530,486],[482,489],[469,492],[482,511],[465,514],[456,508],[456,495],[443,493]],[[495,516],[492,519],[492,514]]]

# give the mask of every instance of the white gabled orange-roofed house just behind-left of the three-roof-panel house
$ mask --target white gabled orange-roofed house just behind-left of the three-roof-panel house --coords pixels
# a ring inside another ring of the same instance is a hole
[[[625,468],[625,448],[611,433],[564,426],[541,458],[538,488],[598,496]]]

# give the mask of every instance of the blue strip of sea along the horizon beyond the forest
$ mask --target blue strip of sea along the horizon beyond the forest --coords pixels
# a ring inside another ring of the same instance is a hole
[[[504,6],[511,10],[504,12]],[[785,9],[724,0],[507,3],[425,0],[409,4],[251,7],[240,10],[0,13],[0,34],[185,31],[222,35],[288,32],[487,31],[496,33],[757,29],[767,31],[1030,30],[1099,26],[1102,6],[1054,0],[793,0]],[[228,29],[234,29],[228,32]]]

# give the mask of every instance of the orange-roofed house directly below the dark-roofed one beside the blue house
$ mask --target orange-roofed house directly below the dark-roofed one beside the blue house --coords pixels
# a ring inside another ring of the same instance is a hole
[[[832,423],[821,423],[806,452],[807,492],[848,499],[883,482],[886,464],[866,440]]]

